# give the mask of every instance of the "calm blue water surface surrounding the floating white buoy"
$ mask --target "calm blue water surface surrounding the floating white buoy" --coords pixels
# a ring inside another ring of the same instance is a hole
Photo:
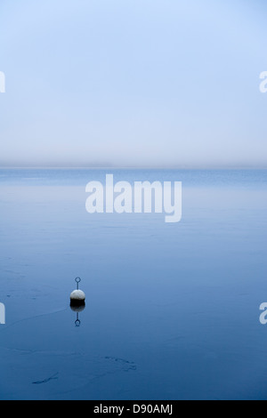
[[[106,173],[182,181],[182,221],[86,213]],[[0,170],[0,398],[267,398],[266,192],[263,170]]]

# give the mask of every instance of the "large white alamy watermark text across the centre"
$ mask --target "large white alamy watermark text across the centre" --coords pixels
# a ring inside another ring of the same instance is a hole
[[[86,199],[88,213],[166,213],[167,223],[182,219],[181,181],[118,181],[114,184],[113,174],[106,175],[106,184],[90,181],[85,189],[90,196]]]

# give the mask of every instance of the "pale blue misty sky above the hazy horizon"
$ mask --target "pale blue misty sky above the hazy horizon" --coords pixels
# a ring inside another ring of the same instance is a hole
[[[0,166],[265,166],[267,4],[1,0]]]

